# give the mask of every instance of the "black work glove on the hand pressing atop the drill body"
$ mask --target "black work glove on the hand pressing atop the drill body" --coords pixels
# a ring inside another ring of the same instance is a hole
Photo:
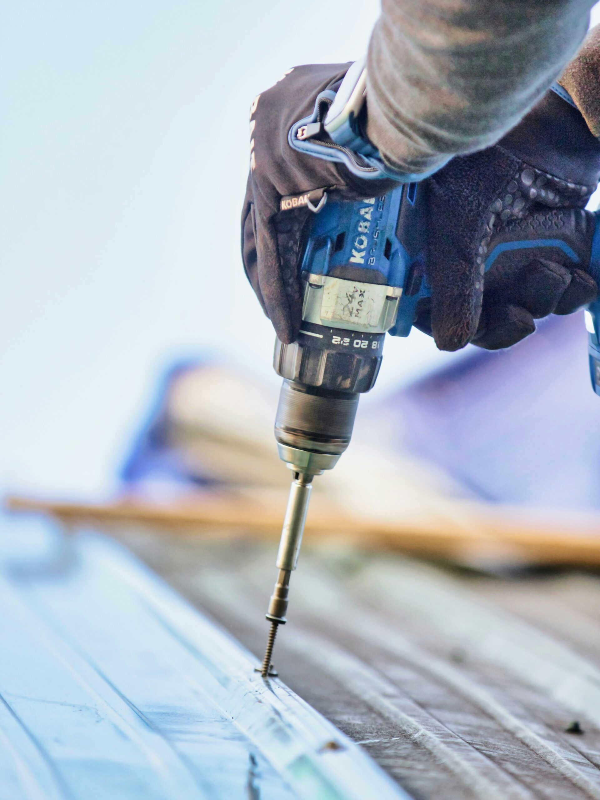
[[[282,342],[294,342],[302,314],[298,258],[302,232],[325,193],[357,199],[383,194],[390,179],[358,178],[342,164],[294,150],[290,128],[310,116],[318,94],[337,90],[350,64],[297,66],[250,109],[250,175],[242,210],[246,275]],[[327,111],[323,103],[321,119]],[[366,170],[373,171],[373,170]]]

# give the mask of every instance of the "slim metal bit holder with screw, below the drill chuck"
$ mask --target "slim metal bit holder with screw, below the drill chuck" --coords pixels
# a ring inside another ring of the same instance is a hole
[[[279,570],[273,594],[271,594],[266,618],[271,623],[269,638],[266,643],[265,658],[262,662],[263,678],[277,675],[271,664],[271,656],[275,644],[277,629],[286,624],[288,595],[290,591],[290,575],[298,564],[298,554],[302,544],[302,534],[306,522],[306,513],[310,501],[313,475],[302,472],[294,473],[290,486],[290,498],[287,501],[286,516],[283,520],[282,538],[279,542],[277,567]]]

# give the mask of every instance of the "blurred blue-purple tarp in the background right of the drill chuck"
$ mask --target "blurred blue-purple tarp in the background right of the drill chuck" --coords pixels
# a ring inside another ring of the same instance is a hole
[[[382,404],[394,440],[490,501],[600,507],[600,398],[582,313],[510,350],[473,348]]]

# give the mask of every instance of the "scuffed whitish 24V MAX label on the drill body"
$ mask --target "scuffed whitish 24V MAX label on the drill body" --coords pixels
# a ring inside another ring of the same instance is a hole
[[[366,329],[376,328],[382,319],[387,286],[326,278],[321,302],[323,322],[352,322]]]

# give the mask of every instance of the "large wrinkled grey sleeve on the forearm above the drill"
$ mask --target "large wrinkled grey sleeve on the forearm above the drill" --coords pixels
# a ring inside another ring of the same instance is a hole
[[[506,134],[574,57],[594,0],[382,0],[367,55],[367,135],[430,173]]]

